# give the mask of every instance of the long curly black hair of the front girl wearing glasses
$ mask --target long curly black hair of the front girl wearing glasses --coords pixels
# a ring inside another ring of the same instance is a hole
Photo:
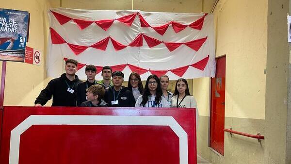
[[[148,97],[151,95],[150,92],[149,92],[149,88],[148,88],[148,81],[150,79],[155,79],[157,81],[155,104],[159,104],[162,101],[162,89],[161,89],[160,80],[159,80],[157,75],[149,75],[147,80],[146,80],[145,91],[144,91],[144,94],[142,96],[143,101],[140,104],[141,107],[146,106],[146,103],[148,101]]]

